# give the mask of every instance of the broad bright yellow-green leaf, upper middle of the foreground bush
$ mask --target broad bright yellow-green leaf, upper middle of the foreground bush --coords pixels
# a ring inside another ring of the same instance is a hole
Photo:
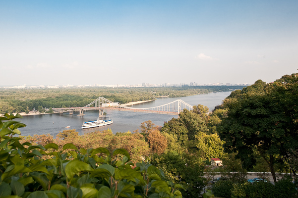
[[[75,174],[81,171],[93,171],[89,164],[74,159],[65,166],[65,174],[68,179],[71,179]]]

